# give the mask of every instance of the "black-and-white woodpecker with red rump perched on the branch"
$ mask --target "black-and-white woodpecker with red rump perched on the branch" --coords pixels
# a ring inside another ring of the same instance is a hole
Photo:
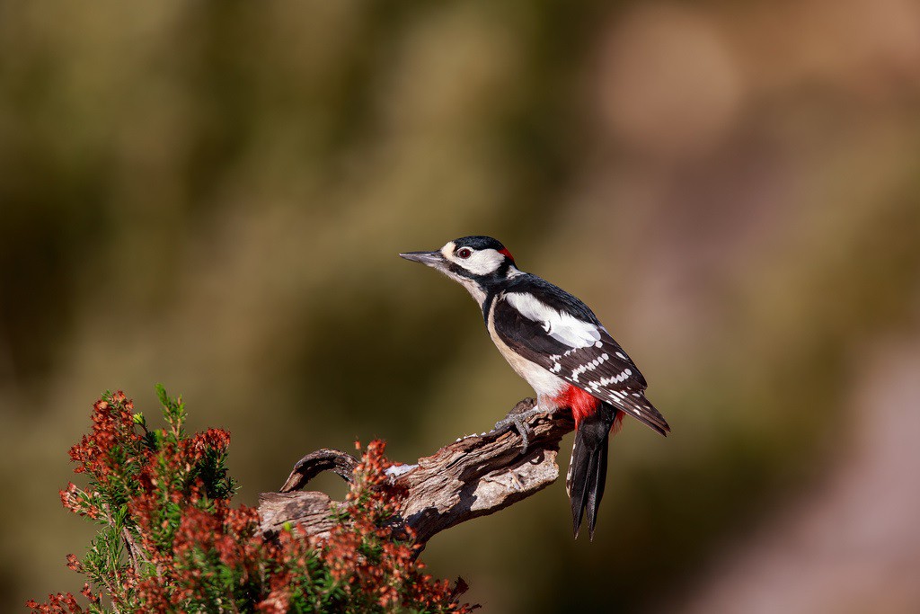
[[[497,239],[460,237],[434,251],[399,254],[464,286],[501,355],[534,388],[536,405],[496,424],[513,425],[527,447],[526,420],[569,407],[575,421],[566,491],[578,539],[587,514],[591,539],[604,495],[610,435],[625,415],[661,435],[671,427],[645,396],[647,383],[619,343],[580,299],[523,272]]]

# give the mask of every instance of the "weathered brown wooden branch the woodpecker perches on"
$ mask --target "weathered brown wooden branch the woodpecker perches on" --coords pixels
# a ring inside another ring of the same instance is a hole
[[[534,405],[533,399],[522,400],[512,413]],[[528,426],[530,442],[523,455],[521,435],[504,428],[469,435],[420,458],[416,465],[393,468],[397,490],[405,493],[400,502],[402,522],[413,529],[417,542],[424,544],[446,528],[494,514],[556,481],[559,440],[575,426],[571,413],[539,414]],[[330,513],[339,502],[323,492],[295,491],[327,469],[351,481],[356,463],[351,455],[329,449],[301,458],[281,492],[259,495],[262,530],[270,534],[285,523],[300,523],[308,535],[328,535],[334,524]]]

